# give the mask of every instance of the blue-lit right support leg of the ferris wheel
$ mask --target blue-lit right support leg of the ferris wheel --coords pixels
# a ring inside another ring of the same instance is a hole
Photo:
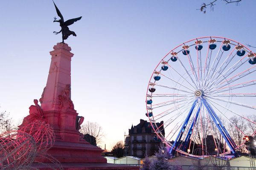
[[[226,134],[223,132],[223,130],[221,129],[221,127],[220,127],[220,125],[218,124],[217,120],[215,119],[215,116],[216,116],[215,112],[210,109],[210,106],[209,106],[208,102],[206,101],[206,99],[204,99],[203,97],[201,97],[201,100],[202,100],[202,102],[203,102],[203,105],[204,105],[205,108],[207,109],[209,115],[212,117],[213,122],[214,122],[215,125],[218,127],[218,130],[220,131],[221,135],[224,137],[224,139],[225,139],[225,141],[226,141],[228,147],[230,148],[231,152],[236,156],[237,153],[236,153],[235,149],[233,148],[232,144],[231,144],[231,143],[229,142],[229,140],[227,139]],[[214,114],[215,116],[214,116],[213,114]]]

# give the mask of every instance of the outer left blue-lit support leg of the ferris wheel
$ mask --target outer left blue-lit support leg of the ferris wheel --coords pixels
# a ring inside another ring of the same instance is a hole
[[[188,114],[188,116],[186,117],[185,121],[183,122],[183,125],[182,125],[182,127],[181,127],[181,129],[180,129],[180,132],[178,133],[178,135],[177,135],[177,137],[176,137],[176,139],[175,139],[175,142],[172,144],[172,147],[171,147],[171,149],[170,149],[170,151],[169,151],[170,154],[172,153],[172,154],[174,155],[175,150],[176,150],[176,148],[177,148],[177,146],[178,146],[178,144],[179,144],[179,142],[180,142],[180,139],[181,139],[181,137],[182,137],[182,135],[183,135],[183,133],[184,133],[184,131],[185,131],[186,125],[187,125],[188,122],[189,122],[189,118],[190,118],[190,116],[192,115],[192,112],[193,112],[193,110],[194,110],[195,105],[196,105],[197,102],[198,102],[198,99],[195,99],[195,101],[194,101],[193,104],[192,104],[192,107],[190,108],[189,114]],[[174,149],[174,148],[175,148],[175,149]]]

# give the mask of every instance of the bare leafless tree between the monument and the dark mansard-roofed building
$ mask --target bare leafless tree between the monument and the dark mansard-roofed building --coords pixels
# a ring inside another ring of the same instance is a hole
[[[102,142],[102,138],[105,136],[102,127],[97,122],[87,121],[81,126],[80,133],[89,134],[96,138],[96,144],[99,145]]]

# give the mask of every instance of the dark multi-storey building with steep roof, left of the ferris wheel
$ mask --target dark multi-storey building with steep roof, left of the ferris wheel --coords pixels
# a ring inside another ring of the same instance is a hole
[[[164,135],[163,121],[156,125]],[[157,138],[150,122],[140,119],[138,125],[131,126],[129,135],[125,138],[125,155],[139,158],[144,158],[145,154],[152,156],[159,149],[160,144],[161,140]]]

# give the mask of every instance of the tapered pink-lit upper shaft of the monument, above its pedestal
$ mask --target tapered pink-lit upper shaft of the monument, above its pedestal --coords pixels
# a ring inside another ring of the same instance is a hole
[[[60,95],[67,85],[71,85],[71,57],[74,55],[70,52],[71,48],[65,43],[57,43],[53,49],[50,51],[52,60],[47,85],[40,99],[43,111],[59,111]]]

